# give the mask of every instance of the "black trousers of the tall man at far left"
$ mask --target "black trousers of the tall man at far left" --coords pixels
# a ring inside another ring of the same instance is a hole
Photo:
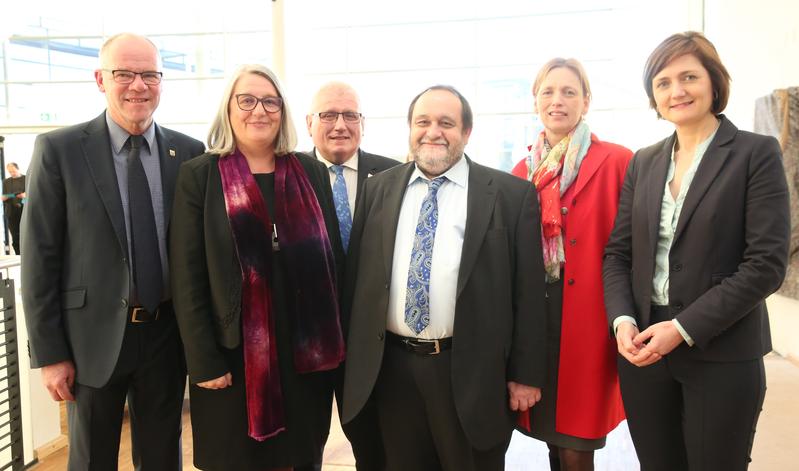
[[[133,464],[140,471],[181,471],[186,387],[183,346],[171,307],[151,323],[128,323],[119,360],[100,388],[75,383],[67,403],[69,471],[117,469],[125,399]]]

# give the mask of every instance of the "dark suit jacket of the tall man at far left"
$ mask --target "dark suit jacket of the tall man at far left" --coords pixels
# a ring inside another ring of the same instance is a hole
[[[184,134],[155,129],[168,221],[178,167],[204,146]],[[131,283],[105,112],[37,137],[28,188],[22,299],[31,366],[72,360],[78,382],[100,387],[119,356]]]

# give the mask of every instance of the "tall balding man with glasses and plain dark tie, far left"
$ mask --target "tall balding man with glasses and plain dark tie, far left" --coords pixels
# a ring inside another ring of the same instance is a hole
[[[40,135],[29,167],[31,366],[68,401],[70,471],[117,469],[126,400],[136,469],[177,471],[186,367],[166,234],[178,167],[204,146],[153,122],[162,71],[149,39],[109,38],[94,77],[106,110]]]

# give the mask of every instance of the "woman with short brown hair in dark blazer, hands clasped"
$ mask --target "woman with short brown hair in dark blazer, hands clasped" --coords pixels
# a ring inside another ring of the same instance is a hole
[[[675,133],[634,156],[603,267],[608,320],[642,470],[744,470],[771,350],[765,298],[788,260],[777,141],[720,114],[730,77],[700,33],[647,60]]]

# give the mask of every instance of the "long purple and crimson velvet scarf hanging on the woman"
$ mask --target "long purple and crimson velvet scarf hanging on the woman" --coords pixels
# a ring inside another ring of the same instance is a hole
[[[266,440],[286,429],[272,312],[272,221],[247,160],[220,157],[233,242],[242,272],[241,317],[248,435]],[[275,158],[275,226],[285,258],[294,369],[310,373],[344,360],[335,261],[325,220],[305,169],[293,154]]]

